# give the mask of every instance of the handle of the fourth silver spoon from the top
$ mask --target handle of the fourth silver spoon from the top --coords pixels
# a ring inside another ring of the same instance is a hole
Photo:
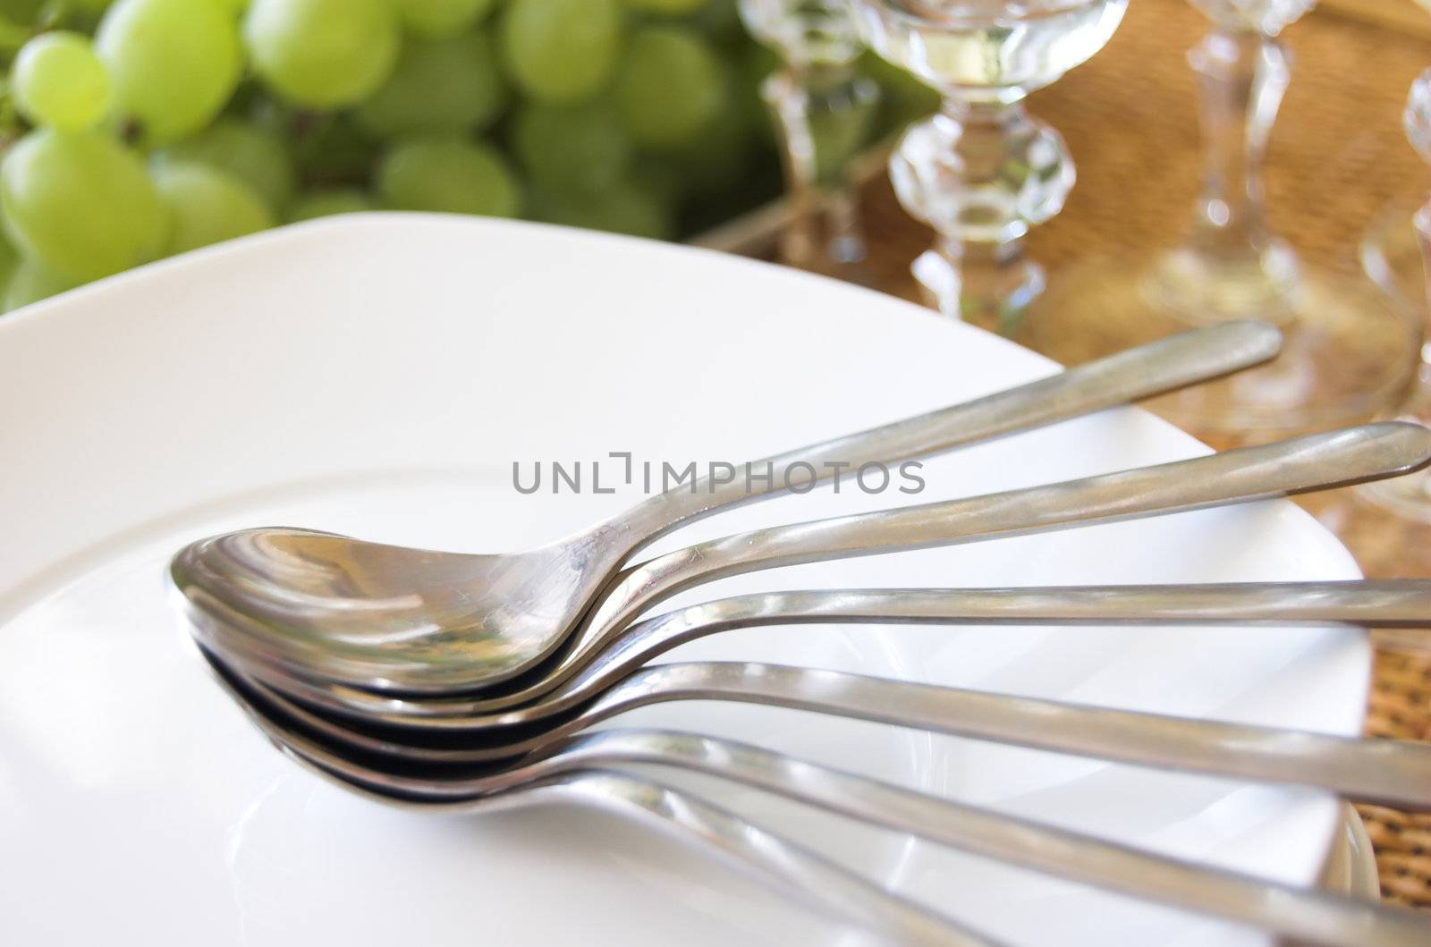
[[[664,664],[627,678],[562,725],[673,700],[837,714],[1098,760],[1331,790],[1431,810],[1431,745],[1191,720],[773,664]]]

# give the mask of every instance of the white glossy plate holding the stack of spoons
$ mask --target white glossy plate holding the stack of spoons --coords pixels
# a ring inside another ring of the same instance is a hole
[[[914,306],[790,270],[591,233],[428,216],[270,232],[0,319],[0,926],[7,943],[844,944],[703,855],[577,808],[389,811],[269,748],[166,599],[183,541],[288,522],[535,546],[633,502],[524,496],[512,462],[611,451],[741,461],[1045,375]],[[920,502],[1202,452],[1122,409],[924,468]],[[909,496],[760,504],[663,548]],[[1355,576],[1291,504],[809,565],[758,588]],[[1175,714],[1358,730],[1362,635],[1327,629],[798,628],[673,659],[803,664]],[[1319,794],[1145,772],[713,702],[698,727],[1062,825],[1309,883]],[[693,780],[1020,943],[1252,944]]]

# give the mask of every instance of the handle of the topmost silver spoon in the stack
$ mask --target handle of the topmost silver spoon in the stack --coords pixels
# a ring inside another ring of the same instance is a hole
[[[837,471],[853,475],[866,463],[930,456],[1152,398],[1266,362],[1281,345],[1276,328],[1251,319],[1182,332],[1027,385],[746,465],[758,476],[700,479],[643,501],[621,516],[621,525],[647,545],[685,522],[781,494],[791,484],[803,488]]]

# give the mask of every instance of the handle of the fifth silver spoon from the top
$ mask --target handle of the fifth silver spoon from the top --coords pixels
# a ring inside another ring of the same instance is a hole
[[[1421,947],[1427,938],[1425,920],[1411,911],[1198,865],[701,734],[585,734],[529,770],[618,764],[734,780],[849,818],[1079,884],[1251,924],[1298,943]],[[436,780],[431,784],[442,785]]]

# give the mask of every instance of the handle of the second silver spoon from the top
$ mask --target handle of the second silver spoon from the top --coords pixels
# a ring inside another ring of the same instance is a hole
[[[1382,422],[1062,484],[736,534],[621,572],[578,629],[575,651],[625,628],[655,602],[728,575],[1286,496],[1407,474],[1428,461],[1431,431]]]

